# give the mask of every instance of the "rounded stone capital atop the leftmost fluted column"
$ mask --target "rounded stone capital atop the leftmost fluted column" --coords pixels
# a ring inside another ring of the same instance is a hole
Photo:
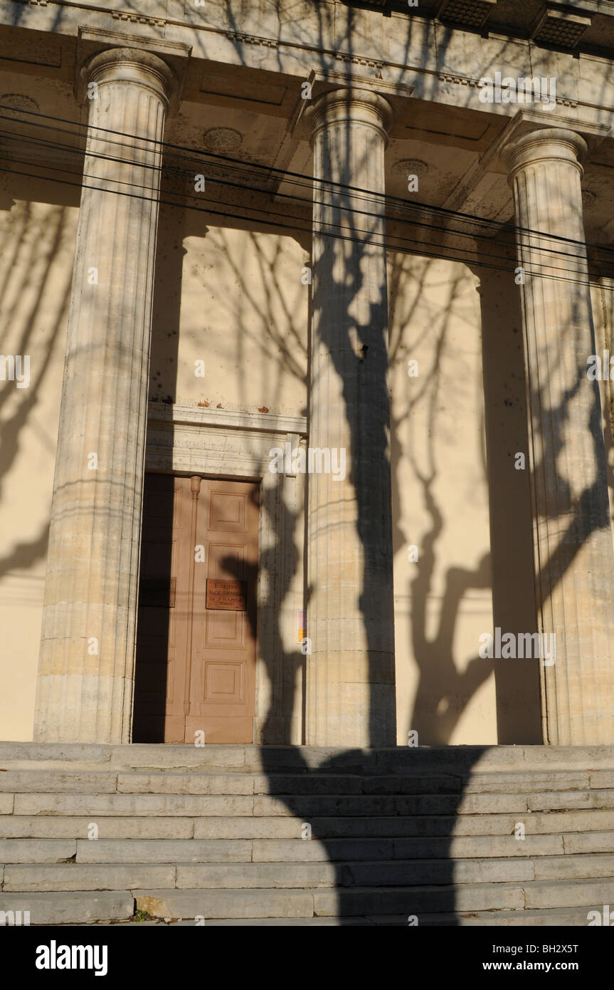
[[[86,87],[95,82],[131,82],[151,90],[168,107],[177,91],[172,68],[158,55],[146,49],[112,48],[87,58],[79,71],[79,96],[85,98]]]

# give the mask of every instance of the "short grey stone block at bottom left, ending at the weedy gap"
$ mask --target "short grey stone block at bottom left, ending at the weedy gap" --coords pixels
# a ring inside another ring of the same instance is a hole
[[[83,925],[132,918],[134,899],[128,890],[0,893],[0,911],[29,911],[32,925]]]

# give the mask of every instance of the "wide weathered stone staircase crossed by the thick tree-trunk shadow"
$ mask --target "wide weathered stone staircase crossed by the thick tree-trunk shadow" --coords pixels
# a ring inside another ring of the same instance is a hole
[[[0,743],[0,864],[31,925],[586,926],[614,746]]]

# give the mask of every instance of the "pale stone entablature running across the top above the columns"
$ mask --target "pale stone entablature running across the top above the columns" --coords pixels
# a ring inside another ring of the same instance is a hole
[[[338,73],[343,65],[347,77],[357,81],[362,78],[377,85],[381,79],[404,91],[412,87],[420,100],[505,116],[514,112],[513,104],[482,104],[479,99],[484,73],[498,70],[502,77],[512,78],[555,76],[560,105],[578,120],[610,126],[614,82],[607,53],[596,47],[579,53],[555,51],[526,37],[510,37],[490,21],[488,31],[484,28],[480,36],[415,13],[391,11],[384,18],[381,10],[342,3],[327,5],[327,18],[319,18],[307,4],[299,15],[292,4],[287,10],[282,4],[279,12],[266,3],[260,5],[263,9],[254,5],[238,10],[236,6],[234,11],[222,0],[207,0],[204,7],[178,0],[141,0],[139,10],[112,11],[84,0],[70,5],[49,0],[45,6],[10,0],[0,9],[0,29],[17,26],[47,32],[58,59],[47,59],[42,68],[60,75],[71,58],[66,41],[83,28],[130,31],[152,43],[180,43],[192,49],[188,99],[191,89],[199,91],[207,62],[281,74],[297,82],[307,79],[314,69],[326,76]],[[11,55],[19,60],[18,51],[7,50],[5,57]],[[27,60],[32,59],[30,51]]]

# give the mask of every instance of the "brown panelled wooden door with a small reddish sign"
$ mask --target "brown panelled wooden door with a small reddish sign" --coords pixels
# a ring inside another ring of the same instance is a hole
[[[251,743],[258,486],[147,474],[134,742]]]

